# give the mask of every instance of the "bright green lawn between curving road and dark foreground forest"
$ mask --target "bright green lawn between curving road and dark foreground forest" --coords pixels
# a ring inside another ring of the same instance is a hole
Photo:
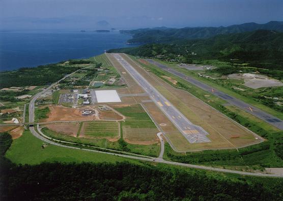
[[[123,157],[93,153],[84,150],[47,145],[42,148],[43,141],[34,137],[29,131],[13,140],[6,157],[16,164],[39,164],[42,162],[122,162],[139,163]]]

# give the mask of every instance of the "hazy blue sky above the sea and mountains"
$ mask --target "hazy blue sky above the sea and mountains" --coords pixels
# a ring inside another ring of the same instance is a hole
[[[0,0],[0,29],[219,27],[283,21],[282,13],[283,0]]]

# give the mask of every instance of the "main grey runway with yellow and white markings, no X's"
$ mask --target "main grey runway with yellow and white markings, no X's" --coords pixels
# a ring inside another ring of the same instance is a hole
[[[148,93],[155,104],[174,123],[174,125],[190,143],[210,142],[207,137],[208,133],[202,127],[194,125],[192,122],[190,122],[119,54],[114,54],[114,57],[119,61],[120,64],[123,65],[132,78]]]

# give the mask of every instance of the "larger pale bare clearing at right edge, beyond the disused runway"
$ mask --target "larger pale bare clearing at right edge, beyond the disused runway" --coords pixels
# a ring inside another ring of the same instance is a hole
[[[244,79],[245,86],[252,89],[258,89],[261,87],[274,87],[283,86],[283,83],[263,76],[262,74],[252,74],[252,73],[234,73],[227,76],[229,79]]]

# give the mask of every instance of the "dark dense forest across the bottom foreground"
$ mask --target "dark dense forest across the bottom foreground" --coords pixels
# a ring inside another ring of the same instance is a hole
[[[282,200],[282,179],[144,163],[16,165],[0,134],[1,200]]]

